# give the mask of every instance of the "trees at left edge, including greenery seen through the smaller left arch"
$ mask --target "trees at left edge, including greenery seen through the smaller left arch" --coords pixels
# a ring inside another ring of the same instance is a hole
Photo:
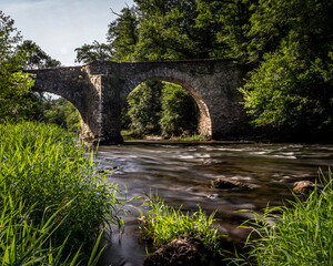
[[[0,11],[0,123],[22,119],[43,121],[79,132],[80,115],[64,99],[32,92],[31,69],[60,66],[37,43],[23,40],[14,21]]]

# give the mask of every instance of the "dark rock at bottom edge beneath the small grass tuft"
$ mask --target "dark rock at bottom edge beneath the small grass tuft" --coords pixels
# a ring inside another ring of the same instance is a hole
[[[209,253],[201,241],[181,235],[149,255],[143,266],[208,266]]]

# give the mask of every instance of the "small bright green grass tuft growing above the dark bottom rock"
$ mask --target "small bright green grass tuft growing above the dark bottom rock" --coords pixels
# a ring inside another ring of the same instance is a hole
[[[219,250],[218,228],[213,226],[214,214],[206,216],[201,208],[194,213],[183,213],[164,204],[158,195],[150,195],[145,203],[149,217],[142,217],[141,229],[145,237],[160,247],[182,234],[198,237],[211,252]]]

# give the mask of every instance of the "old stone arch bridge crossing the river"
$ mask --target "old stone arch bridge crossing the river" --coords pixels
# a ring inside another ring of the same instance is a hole
[[[243,71],[232,60],[105,61],[27,72],[36,74],[34,91],[63,96],[78,109],[82,117],[80,136],[87,143],[122,143],[121,109],[129,93],[150,79],[173,82],[190,92],[200,110],[199,133],[213,140],[246,135],[238,91]]]

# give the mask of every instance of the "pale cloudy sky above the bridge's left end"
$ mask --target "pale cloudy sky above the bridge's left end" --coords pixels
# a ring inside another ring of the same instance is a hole
[[[105,42],[108,24],[132,0],[0,0],[24,40],[32,40],[62,65],[75,65],[75,48]]]

